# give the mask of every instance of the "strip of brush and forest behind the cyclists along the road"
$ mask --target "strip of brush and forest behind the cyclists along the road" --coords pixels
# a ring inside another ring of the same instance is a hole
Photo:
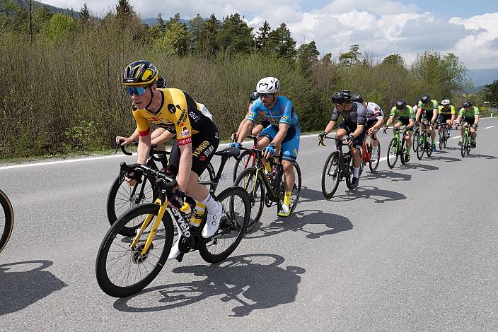
[[[253,30],[243,16],[182,20],[158,15],[146,25],[127,0],[103,18],[81,11],[54,13],[30,0],[0,0],[0,158],[108,150],[135,128],[122,71],[153,62],[168,87],[185,90],[212,112],[221,138],[237,129],[255,83],[279,78],[303,131],[330,120],[330,96],[349,89],[381,105],[414,105],[429,93],[439,102],[498,102],[498,81],[468,95],[472,83],[455,54],[422,50],[407,64],[400,54],[379,59],[351,45],[320,54],[314,41],[296,47],[285,23]],[[484,112],[489,114],[489,112]]]

